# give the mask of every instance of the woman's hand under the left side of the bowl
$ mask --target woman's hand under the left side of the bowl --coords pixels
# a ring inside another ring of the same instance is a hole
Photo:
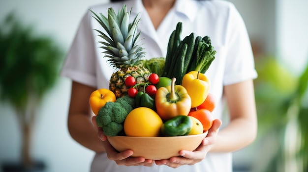
[[[132,150],[125,150],[123,152],[118,152],[112,145],[108,142],[107,137],[104,135],[104,131],[101,127],[98,127],[95,121],[96,116],[92,117],[92,123],[97,129],[97,135],[101,141],[103,141],[103,146],[106,150],[107,157],[110,160],[115,161],[118,165],[125,166],[152,166],[154,164],[153,160],[145,159],[143,157],[130,157],[133,154]]]

